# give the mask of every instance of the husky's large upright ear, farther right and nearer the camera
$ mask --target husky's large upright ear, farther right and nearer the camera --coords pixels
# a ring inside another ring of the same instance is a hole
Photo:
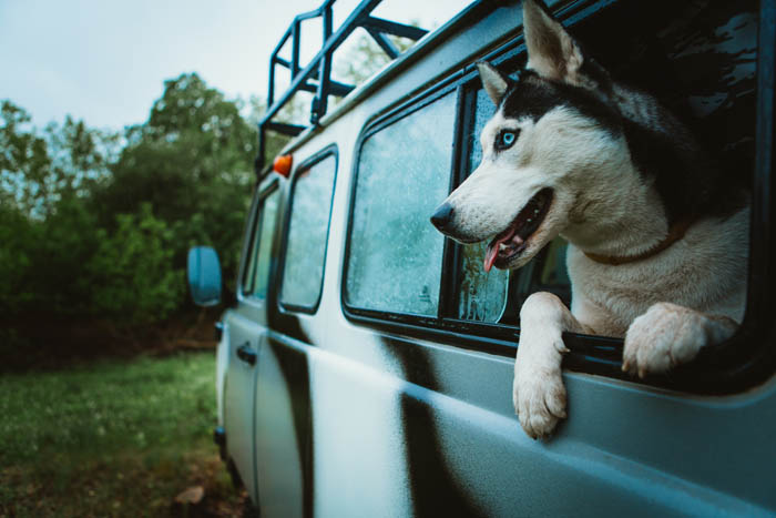
[[[541,0],[523,0],[527,68],[547,79],[579,84],[584,61],[582,51],[563,26],[538,1]]]

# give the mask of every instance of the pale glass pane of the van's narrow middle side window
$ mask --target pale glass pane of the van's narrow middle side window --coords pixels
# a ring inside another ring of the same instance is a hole
[[[324,280],[337,159],[330,154],[294,180],[280,302],[312,308]]]

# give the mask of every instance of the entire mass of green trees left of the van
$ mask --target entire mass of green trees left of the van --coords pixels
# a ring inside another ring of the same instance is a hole
[[[263,106],[251,108],[255,119]],[[69,116],[38,131],[3,101],[3,319],[153,324],[185,306],[186,252],[200,244],[232,282],[255,179],[256,130],[241,109],[195,73],[166,81],[149,120],[123,135]]]

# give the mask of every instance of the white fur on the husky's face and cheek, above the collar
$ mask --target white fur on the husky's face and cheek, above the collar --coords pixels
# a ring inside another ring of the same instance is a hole
[[[493,141],[502,129],[519,129],[520,136],[512,148],[496,153]],[[650,246],[652,237],[656,242],[665,235],[663,215],[657,221],[644,219],[651,212],[634,211],[632,200],[624,203],[629,192],[637,193],[643,203],[656,203],[654,191],[637,175],[623,174],[623,170],[633,169],[624,139],[612,139],[574,110],[555,108],[535,123],[506,119],[499,111],[486,124],[480,140],[482,163],[447,199],[456,211],[456,238],[479,242],[492,237],[510,225],[537,192],[553,190],[544,221],[510,268],[528,263],[561,231],[579,234],[583,242],[598,242],[601,232],[612,232],[605,227],[605,214],[612,211],[627,220],[623,224],[641,231],[642,237],[634,237],[634,245]],[[586,222],[599,215],[604,215],[599,219],[602,225],[590,228]]]

